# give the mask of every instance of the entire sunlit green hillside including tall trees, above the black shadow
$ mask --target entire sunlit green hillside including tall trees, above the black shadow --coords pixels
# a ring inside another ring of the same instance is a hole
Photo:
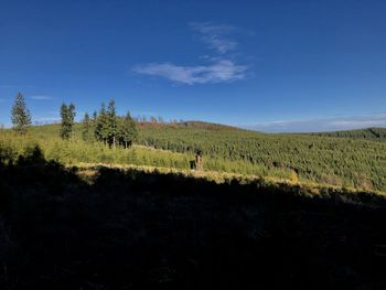
[[[39,147],[45,159],[66,165],[197,169],[294,184],[386,191],[386,142],[374,141],[384,137],[382,129],[331,136],[269,135],[203,121],[164,122],[156,117],[135,121],[129,112],[118,116],[112,99],[93,117],[85,114],[79,123],[75,117],[75,105],[63,104],[60,125],[31,127],[19,94],[12,109],[13,130],[0,132],[1,161],[12,163]]]

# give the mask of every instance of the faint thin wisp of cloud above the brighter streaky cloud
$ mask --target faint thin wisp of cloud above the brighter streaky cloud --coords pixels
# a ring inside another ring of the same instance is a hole
[[[190,28],[201,34],[201,40],[221,54],[234,51],[238,43],[230,39],[237,29],[232,25],[215,25],[210,22],[192,22]]]

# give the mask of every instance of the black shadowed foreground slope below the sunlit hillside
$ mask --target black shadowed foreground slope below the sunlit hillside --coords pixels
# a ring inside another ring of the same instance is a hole
[[[98,169],[39,148],[0,165],[0,289],[386,289],[369,193]]]

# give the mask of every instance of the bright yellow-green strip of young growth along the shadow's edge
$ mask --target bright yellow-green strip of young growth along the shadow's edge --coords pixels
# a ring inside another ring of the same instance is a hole
[[[79,163],[111,164],[111,165],[148,165],[191,170],[194,152],[172,152],[141,144],[128,149],[117,147],[110,149],[98,141],[84,141],[82,126],[74,127],[72,140],[62,140],[58,137],[60,126],[31,127],[29,135],[19,136],[11,130],[0,132],[0,159],[14,162],[19,155],[25,155],[36,146],[41,148],[44,158],[66,165]],[[141,130],[140,130],[141,131]],[[286,169],[266,169],[244,161],[228,161],[221,158],[205,158],[205,171],[225,171],[240,174],[271,176],[279,180],[289,180],[291,171]]]

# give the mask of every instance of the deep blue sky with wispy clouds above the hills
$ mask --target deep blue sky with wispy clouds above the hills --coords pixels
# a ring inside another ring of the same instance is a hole
[[[265,131],[386,126],[385,1],[0,1],[0,123],[118,112]]]

